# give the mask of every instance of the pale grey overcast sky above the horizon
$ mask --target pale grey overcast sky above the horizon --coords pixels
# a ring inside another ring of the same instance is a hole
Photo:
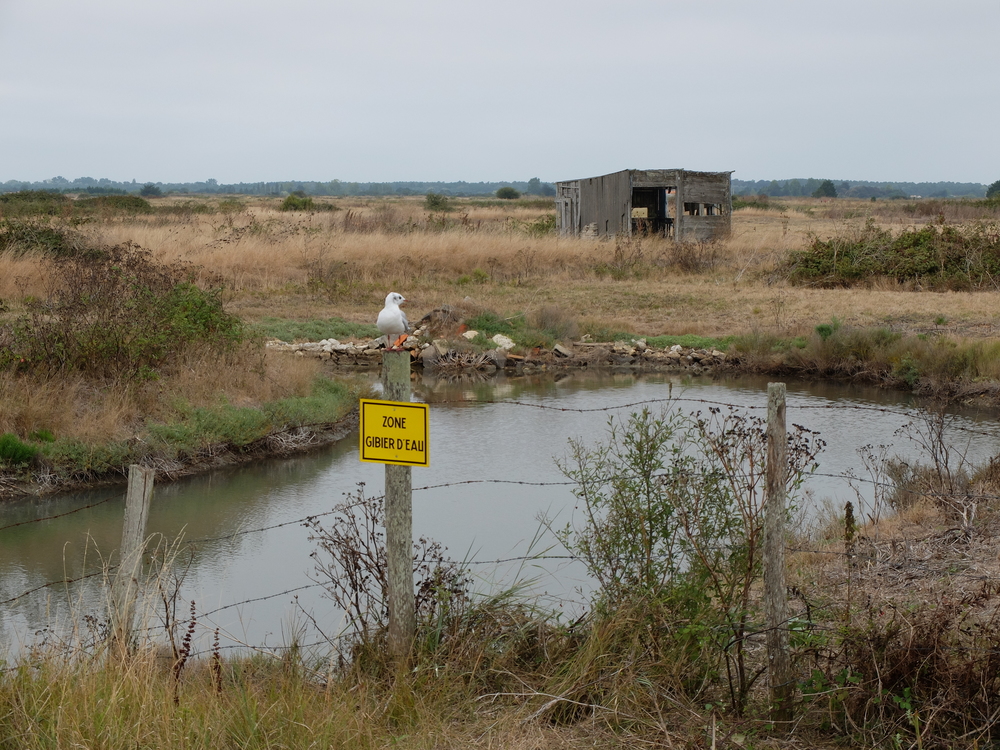
[[[1000,179],[1000,0],[0,0],[0,182]]]

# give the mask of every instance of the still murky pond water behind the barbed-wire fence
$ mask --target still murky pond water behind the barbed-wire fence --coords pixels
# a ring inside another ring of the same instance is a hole
[[[721,402],[758,407],[754,413],[763,415],[759,407],[766,403],[766,389],[765,380],[753,378],[633,374],[418,382],[415,398],[432,405],[431,465],[413,470],[414,535],[432,537],[447,546],[452,557],[474,562],[472,570],[483,586],[530,578],[546,601],[572,608],[589,585],[579,564],[492,562],[549,548],[551,554],[563,553],[544,532],[539,517],[545,514],[557,523],[572,517],[574,497],[569,486],[560,484],[566,479],[556,465],[568,455],[567,439],[596,441],[605,434],[610,415],[627,417],[630,408],[650,402],[658,407],[658,401],[670,396],[681,399],[677,406],[688,411]],[[625,406],[629,404],[634,406]],[[554,408],[533,408],[537,406]],[[609,407],[622,408],[606,410]],[[788,385],[789,423],[819,431],[828,444],[820,456],[822,474],[852,469],[863,474],[856,449],[866,443],[893,445],[901,455],[914,455],[914,447],[896,431],[913,418],[917,407],[908,396],[873,388]],[[594,411],[579,411],[588,409]],[[995,417],[954,412],[954,426],[968,429],[952,430],[950,444],[972,460],[1000,452]],[[320,587],[310,587],[315,545],[309,531],[295,521],[330,510],[359,482],[368,492],[381,493],[383,468],[358,461],[355,434],[307,456],[262,461],[157,487],[149,531],[182,540],[177,558],[177,569],[185,571],[180,615],[186,617],[188,603],[196,602],[203,644],[209,637],[205,634],[216,627],[223,642],[231,645],[281,645],[300,629],[304,642],[321,641],[312,621],[329,633],[338,631],[340,615]],[[841,479],[816,476],[807,486],[807,501],[814,506],[855,500]],[[0,531],[0,602],[50,581],[100,571],[102,560],[120,541],[122,494],[79,493],[4,507],[0,526],[96,504],[62,518]],[[250,601],[255,599],[259,601]],[[62,637],[68,627],[86,636],[85,616],[99,618],[102,600],[97,575],[3,603],[0,643],[17,651],[46,634]],[[231,606],[238,602],[245,603]],[[158,627],[161,611],[162,605],[145,616],[150,628]]]

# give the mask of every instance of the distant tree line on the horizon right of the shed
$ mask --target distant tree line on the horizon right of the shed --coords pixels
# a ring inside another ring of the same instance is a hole
[[[983,198],[986,185],[978,182],[871,182],[867,180],[823,180],[814,177],[791,180],[733,180],[734,195],[795,197],[830,195],[830,183],[838,198]],[[822,188],[822,189],[821,189]]]

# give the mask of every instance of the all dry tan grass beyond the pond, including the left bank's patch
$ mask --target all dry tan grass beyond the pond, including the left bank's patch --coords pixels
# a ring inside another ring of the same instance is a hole
[[[226,309],[248,323],[337,317],[371,324],[393,290],[409,300],[411,320],[452,305],[471,314],[523,316],[539,328],[556,321],[561,330],[595,338],[607,332],[744,335],[760,342],[744,354],[748,361],[756,356],[762,370],[773,359],[774,340],[811,337],[816,346],[786,346],[791,355],[781,356],[817,377],[867,372],[871,381],[898,384],[902,378],[912,386],[917,370],[907,357],[914,347],[926,350],[920,355],[922,377],[989,380],[1000,372],[991,341],[1000,325],[996,290],[918,291],[913,284],[878,280],[813,288],[790,283],[784,268],[790,251],[816,239],[857,235],[867,222],[893,232],[932,222],[979,222],[995,231],[996,207],[812,198],[749,202],[734,211],[731,237],[683,245],[648,237],[562,239],[552,230],[549,199],[450,198],[446,211],[429,211],[419,196],[314,200],[314,210],[283,211],[278,198],[168,196],[153,199],[154,210],[146,213],[108,210],[82,217],[65,201],[62,215],[26,221],[58,229],[84,246],[134,243],[164,264],[185,264],[200,287],[221,289]],[[4,220],[14,221],[0,216]],[[0,322],[29,308],[36,317],[44,313],[54,293],[50,263],[37,250],[14,246],[0,252]],[[911,337],[886,348],[877,367],[843,370],[837,360],[844,356],[821,346],[826,340],[813,333],[830,324],[844,331],[932,334],[935,341],[946,334],[949,341],[971,340],[979,349],[959,353],[973,369],[960,362],[965,369],[955,370],[950,350]],[[188,353],[154,380],[99,387],[72,372],[38,381],[8,370],[0,373],[0,432],[23,437],[44,428],[87,443],[127,441],[148,420],[182,419],[185,409],[305,398],[316,375],[315,364],[293,366],[249,350],[230,360]],[[288,371],[292,367],[295,373]]]

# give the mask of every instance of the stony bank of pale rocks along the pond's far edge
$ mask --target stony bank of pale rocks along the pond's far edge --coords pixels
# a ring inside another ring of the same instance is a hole
[[[514,353],[515,344],[503,334],[486,339],[486,348],[477,331],[465,331],[454,339],[427,340],[423,329],[417,329],[404,343],[413,364],[425,370],[442,372],[478,370],[531,373],[554,368],[595,368],[634,370],[681,370],[692,374],[714,370],[732,364],[732,358],[718,349],[692,349],[674,345],[657,349],[645,339],[595,343],[578,341],[556,344],[551,349],[535,347]],[[479,339],[477,343],[473,341]],[[298,356],[329,360],[338,369],[377,368],[382,362],[385,338],[370,341],[341,342],[336,339],[289,344],[267,342],[270,349],[287,351]]]

